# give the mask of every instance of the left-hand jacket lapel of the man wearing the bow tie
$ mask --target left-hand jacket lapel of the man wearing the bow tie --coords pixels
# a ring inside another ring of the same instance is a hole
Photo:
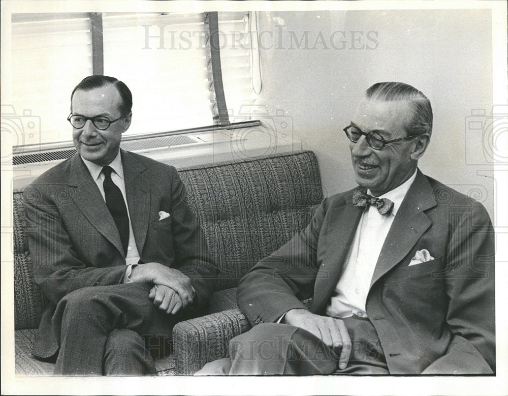
[[[353,206],[352,197],[353,191],[344,197],[346,201],[344,206],[331,208],[333,214],[327,221],[328,227],[331,228],[326,236],[327,254],[314,285],[312,305],[316,309],[322,306],[324,300],[329,298],[332,290],[337,286],[347,252],[353,243],[358,222],[364,211],[363,207]]]

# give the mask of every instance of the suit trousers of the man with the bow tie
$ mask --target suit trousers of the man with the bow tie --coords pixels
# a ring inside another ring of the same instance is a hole
[[[280,323],[262,323],[230,341],[230,356],[205,364],[196,375],[389,374],[383,349],[368,319],[343,318],[352,341],[347,367],[338,368],[340,350],[312,333]]]

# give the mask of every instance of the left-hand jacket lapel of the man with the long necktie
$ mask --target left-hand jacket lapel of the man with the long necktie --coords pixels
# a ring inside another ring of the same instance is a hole
[[[124,257],[120,234],[115,222],[109,213],[97,184],[93,181],[79,154],[76,154],[71,160],[69,185],[75,188],[76,195],[74,201],[79,210]]]

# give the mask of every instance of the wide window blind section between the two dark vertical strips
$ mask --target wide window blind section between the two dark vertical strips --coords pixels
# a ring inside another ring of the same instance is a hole
[[[212,124],[204,14],[104,13],[104,74],[133,93],[126,134]]]

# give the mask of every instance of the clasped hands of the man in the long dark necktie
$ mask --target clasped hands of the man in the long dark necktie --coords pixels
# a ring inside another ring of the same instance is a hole
[[[178,269],[161,263],[149,262],[133,267],[130,279],[154,284],[148,298],[167,314],[174,315],[193,301],[195,290],[190,279]]]

